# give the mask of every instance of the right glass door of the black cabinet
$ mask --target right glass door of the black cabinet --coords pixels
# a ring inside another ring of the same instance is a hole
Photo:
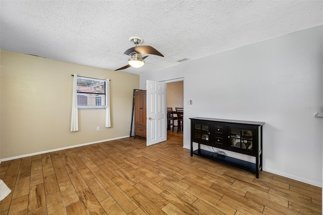
[[[254,129],[229,127],[229,144],[231,147],[241,148],[252,151],[252,142],[254,136]]]

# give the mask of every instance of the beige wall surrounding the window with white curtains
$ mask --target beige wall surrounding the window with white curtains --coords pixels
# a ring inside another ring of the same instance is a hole
[[[74,73],[111,79],[112,128],[103,110],[79,110],[79,131],[70,132]],[[129,136],[138,75],[1,50],[0,80],[1,159]]]

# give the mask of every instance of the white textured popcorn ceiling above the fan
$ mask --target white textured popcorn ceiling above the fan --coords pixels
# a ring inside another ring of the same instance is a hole
[[[143,74],[323,24],[313,1],[3,1],[1,49],[115,70],[127,65],[131,36],[149,55]]]

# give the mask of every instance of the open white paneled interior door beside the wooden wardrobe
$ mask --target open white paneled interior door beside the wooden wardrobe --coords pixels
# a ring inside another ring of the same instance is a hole
[[[166,83],[147,80],[147,146],[167,140]]]

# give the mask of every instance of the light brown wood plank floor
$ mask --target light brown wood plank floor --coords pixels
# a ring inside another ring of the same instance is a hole
[[[133,137],[1,163],[0,214],[320,214],[321,189],[212,162],[183,135]]]

